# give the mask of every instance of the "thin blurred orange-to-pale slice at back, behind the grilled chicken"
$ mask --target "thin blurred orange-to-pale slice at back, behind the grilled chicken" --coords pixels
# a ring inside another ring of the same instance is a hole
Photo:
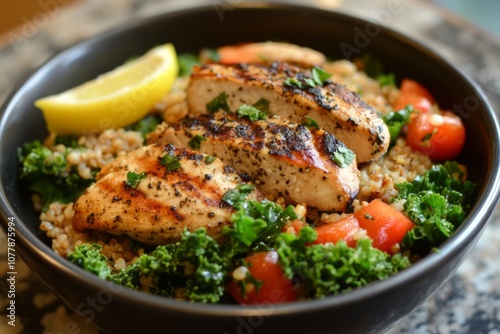
[[[218,62],[221,64],[271,64],[275,61],[288,62],[303,67],[322,66],[326,57],[316,50],[282,42],[245,43],[217,48]],[[214,60],[208,50],[200,53],[202,62]]]

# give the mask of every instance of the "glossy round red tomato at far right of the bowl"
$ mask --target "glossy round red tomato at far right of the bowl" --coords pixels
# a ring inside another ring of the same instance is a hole
[[[457,115],[419,114],[408,123],[408,145],[434,161],[456,158],[465,143],[465,127]]]

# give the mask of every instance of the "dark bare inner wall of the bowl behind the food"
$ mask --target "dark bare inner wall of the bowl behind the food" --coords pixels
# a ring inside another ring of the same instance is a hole
[[[165,13],[70,48],[36,71],[4,107],[0,133],[4,214],[15,215],[29,234],[49,245],[48,238],[38,228],[38,213],[32,208],[30,194],[17,177],[17,147],[47,135],[42,114],[34,107],[34,101],[93,79],[130,57],[166,42],[173,43],[178,53],[197,53],[204,47],[232,43],[275,40],[320,50],[331,59],[347,57],[352,60],[363,54],[373,55],[382,61],[386,72],[395,73],[398,80],[412,78],[421,82],[435,95],[440,106],[460,113],[468,137],[459,160],[469,167],[470,179],[480,184],[480,201],[483,201],[489,196],[498,174],[494,164],[498,162],[498,129],[482,93],[427,49],[391,30],[378,28],[380,30],[374,33],[373,25],[368,27],[365,21],[306,7],[241,5],[225,11],[221,17],[213,6],[207,6]],[[359,31],[364,32],[364,37]],[[482,230],[484,226],[474,228]],[[54,256],[57,255],[49,254],[49,257]],[[447,275],[449,273],[443,274],[436,285],[439,286]],[[385,325],[395,319],[396,316],[389,317]]]

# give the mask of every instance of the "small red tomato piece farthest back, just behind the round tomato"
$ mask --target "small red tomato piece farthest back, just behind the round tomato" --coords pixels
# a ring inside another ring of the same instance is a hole
[[[436,102],[427,89],[411,79],[403,79],[399,92],[399,98],[392,106],[394,110],[411,105],[416,110],[428,112],[432,104]]]

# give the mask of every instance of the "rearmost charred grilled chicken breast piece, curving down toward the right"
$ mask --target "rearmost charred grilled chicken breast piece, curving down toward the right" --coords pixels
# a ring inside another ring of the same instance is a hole
[[[387,151],[390,136],[376,111],[344,86],[326,81],[311,86],[311,71],[286,63],[261,65],[206,64],[195,67],[187,89],[194,115],[207,113],[207,104],[225,98],[226,109],[252,105],[264,98],[273,115],[302,122],[313,118],[356,153],[358,163],[376,159]],[[212,103],[213,105],[213,103]]]

